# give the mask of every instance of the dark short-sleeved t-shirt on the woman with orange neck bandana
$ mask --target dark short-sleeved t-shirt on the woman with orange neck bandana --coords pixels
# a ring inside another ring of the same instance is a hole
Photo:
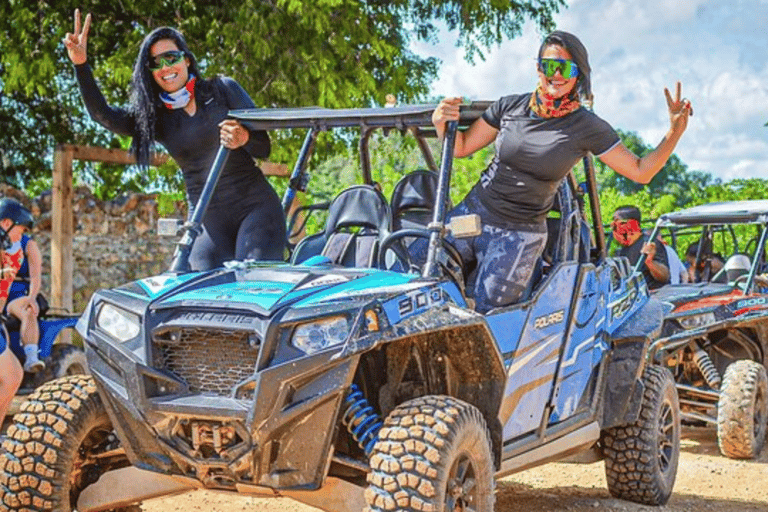
[[[483,113],[499,133],[493,160],[476,188],[493,217],[487,222],[544,231],[563,177],[587,152],[602,155],[620,139],[607,122],[585,108],[564,117],[540,118],[531,112],[530,98],[531,93],[505,96]]]

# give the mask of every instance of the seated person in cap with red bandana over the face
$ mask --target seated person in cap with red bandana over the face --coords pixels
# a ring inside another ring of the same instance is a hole
[[[670,283],[667,251],[659,240],[648,241],[640,228],[641,220],[636,206],[621,206],[613,213],[613,238],[622,246],[616,255],[625,256],[635,265],[644,254],[646,258],[640,270],[648,289],[655,290]]]

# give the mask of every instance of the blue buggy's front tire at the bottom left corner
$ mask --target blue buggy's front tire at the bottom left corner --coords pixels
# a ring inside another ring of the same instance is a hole
[[[92,454],[109,451],[112,426],[93,379],[73,375],[32,393],[0,452],[2,504],[20,512],[70,512],[101,475]],[[127,465],[127,461],[126,464]],[[139,506],[113,512],[137,512]]]

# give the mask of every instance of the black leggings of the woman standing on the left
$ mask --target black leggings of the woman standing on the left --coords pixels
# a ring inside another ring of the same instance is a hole
[[[210,270],[230,260],[285,259],[285,215],[279,200],[257,205],[239,223],[234,220],[236,213],[206,212],[203,232],[189,256],[192,270]]]

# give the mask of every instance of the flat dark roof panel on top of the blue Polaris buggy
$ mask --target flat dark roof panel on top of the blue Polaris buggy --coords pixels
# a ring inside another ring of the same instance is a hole
[[[459,126],[465,127],[480,117],[491,104],[489,101],[475,101],[462,105]],[[381,108],[254,108],[230,110],[229,117],[237,119],[254,130],[275,130],[282,128],[316,128],[327,130],[362,126],[366,128],[409,128],[431,127],[435,104],[404,105]]]

